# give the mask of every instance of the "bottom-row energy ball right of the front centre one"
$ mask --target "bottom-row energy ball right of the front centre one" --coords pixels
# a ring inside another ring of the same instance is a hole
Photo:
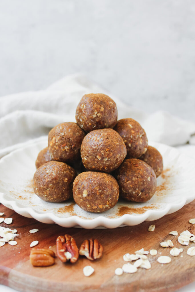
[[[156,175],[146,162],[125,159],[116,171],[120,195],[128,201],[146,202],[156,191]]]

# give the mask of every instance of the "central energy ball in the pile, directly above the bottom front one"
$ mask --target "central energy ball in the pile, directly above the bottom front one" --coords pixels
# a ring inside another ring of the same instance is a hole
[[[127,150],[120,135],[113,129],[88,133],[82,141],[81,158],[85,168],[111,172],[125,159]]]

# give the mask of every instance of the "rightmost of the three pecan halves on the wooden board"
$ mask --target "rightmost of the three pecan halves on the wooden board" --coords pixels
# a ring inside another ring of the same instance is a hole
[[[79,254],[86,256],[89,260],[96,260],[101,258],[103,253],[103,246],[97,239],[86,239],[80,246]]]

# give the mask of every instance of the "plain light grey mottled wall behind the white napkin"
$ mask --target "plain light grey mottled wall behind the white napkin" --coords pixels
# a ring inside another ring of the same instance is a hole
[[[195,1],[0,0],[0,96],[77,72],[195,121]]]

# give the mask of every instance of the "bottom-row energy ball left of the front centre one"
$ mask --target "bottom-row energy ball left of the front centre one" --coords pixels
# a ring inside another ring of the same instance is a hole
[[[77,173],[66,163],[50,161],[34,173],[35,194],[47,202],[63,202],[73,195],[73,181]]]

